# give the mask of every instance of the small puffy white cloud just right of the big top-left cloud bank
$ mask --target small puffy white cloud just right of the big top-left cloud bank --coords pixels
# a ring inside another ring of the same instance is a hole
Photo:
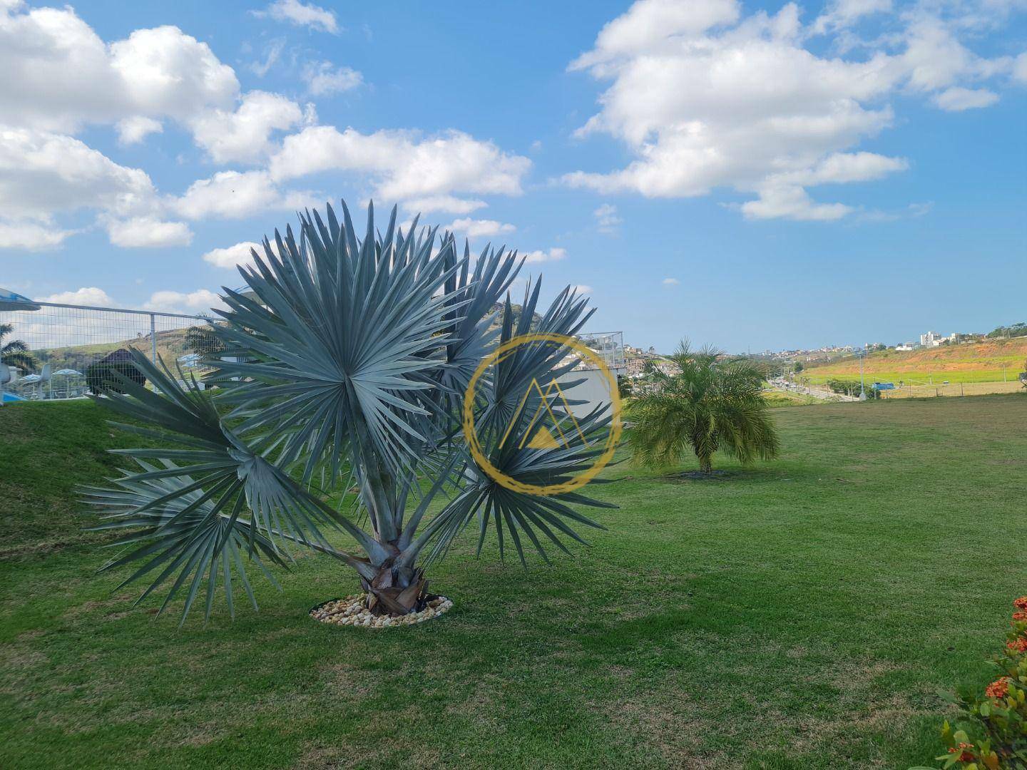
[[[211,110],[190,125],[196,144],[218,163],[260,160],[272,151],[274,130],[292,128],[303,119],[303,111],[292,100],[277,93],[250,91],[238,108]]]

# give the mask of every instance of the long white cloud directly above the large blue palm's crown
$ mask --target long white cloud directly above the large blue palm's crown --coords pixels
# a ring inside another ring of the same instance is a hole
[[[423,137],[410,130],[360,133],[334,126],[305,128],[287,137],[271,158],[271,176],[289,180],[328,170],[367,174],[386,200],[438,198],[453,193],[520,195],[528,158],[504,153],[492,142],[449,130]]]

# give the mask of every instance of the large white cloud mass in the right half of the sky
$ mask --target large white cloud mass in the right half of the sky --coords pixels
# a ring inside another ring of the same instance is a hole
[[[907,167],[853,152],[892,123],[888,97],[929,94],[945,110],[986,107],[997,94],[960,84],[1016,74],[1018,60],[984,59],[964,45],[965,13],[940,15],[934,6],[888,14],[901,26],[875,40],[853,38],[855,26],[889,7],[835,0],[804,27],[794,3],[746,16],[735,0],[639,0],[569,68],[608,84],[577,136],[613,136],[635,159],[563,182],[650,197],[727,188],[757,196],[740,206],[751,218],[844,217],[852,207],[817,202],[807,188]],[[820,52],[824,35],[834,50],[859,55]]]

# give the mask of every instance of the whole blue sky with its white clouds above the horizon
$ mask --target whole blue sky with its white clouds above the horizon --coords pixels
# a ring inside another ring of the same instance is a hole
[[[1024,7],[0,0],[0,285],[203,309],[374,197],[633,344],[988,331],[1027,315]]]

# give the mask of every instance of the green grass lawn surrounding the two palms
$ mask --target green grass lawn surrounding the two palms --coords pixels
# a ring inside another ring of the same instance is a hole
[[[990,681],[1027,593],[1027,397],[774,411],[784,453],[729,478],[621,465],[609,528],[553,567],[432,568],[456,602],[369,631],[299,560],[203,625],[94,570],[73,486],[113,468],[91,403],[0,409],[4,768],[906,768],[939,688]]]

